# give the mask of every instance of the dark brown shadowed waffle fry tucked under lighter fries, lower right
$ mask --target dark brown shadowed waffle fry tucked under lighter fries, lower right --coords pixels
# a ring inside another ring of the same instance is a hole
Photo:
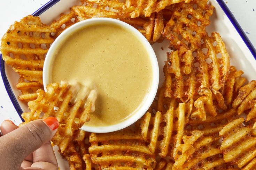
[[[204,132],[204,136],[215,136],[218,135],[219,131],[227,122],[233,120],[233,116],[235,115],[236,110],[230,109],[219,113],[217,116],[209,116],[204,121],[190,119],[185,129],[188,131],[201,130]]]

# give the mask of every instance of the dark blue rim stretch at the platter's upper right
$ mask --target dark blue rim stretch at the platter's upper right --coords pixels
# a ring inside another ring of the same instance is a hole
[[[217,2],[219,4],[219,6],[222,8],[222,10],[225,12],[225,14],[227,15],[228,19],[231,21],[233,26],[235,27],[238,34],[241,36],[241,38],[245,42],[245,44],[248,47],[248,49],[250,50],[251,54],[253,54],[254,59],[256,60],[256,50],[255,50],[253,44],[250,42],[249,38],[247,37],[247,35],[243,31],[242,27],[237,22],[237,20],[235,19],[234,15],[230,11],[230,9],[227,7],[224,0],[217,0]]]

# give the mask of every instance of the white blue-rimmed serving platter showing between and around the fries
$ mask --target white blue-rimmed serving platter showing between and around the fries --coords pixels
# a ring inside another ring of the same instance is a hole
[[[239,24],[231,14],[230,10],[225,5],[223,0],[209,0],[211,5],[215,6],[214,14],[210,17],[211,24],[207,27],[209,35],[211,32],[218,32],[225,42],[226,49],[230,54],[231,65],[237,69],[243,70],[244,77],[249,81],[256,79],[256,50],[251,45],[246,34],[242,31]],[[79,0],[51,0],[46,5],[42,6],[33,15],[39,16],[42,23],[50,24],[54,19],[58,19],[61,13],[68,13],[69,8],[74,5],[80,5]],[[158,60],[160,69],[160,82],[162,85],[164,80],[163,66],[166,61],[166,52],[171,50],[168,48],[169,41],[165,40],[162,43],[152,45]],[[163,48],[163,50],[161,49]],[[18,74],[15,73],[10,66],[6,65],[1,58],[1,75],[5,84],[6,90],[10,99],[19,115],[28,111],[26,103],[20,102],[18,96],[21,94],[16,89],[18,82]],[[57,152],[58,148],[54,147],[54,152],[61,170],[69,169],[68,162],[62,159]]]

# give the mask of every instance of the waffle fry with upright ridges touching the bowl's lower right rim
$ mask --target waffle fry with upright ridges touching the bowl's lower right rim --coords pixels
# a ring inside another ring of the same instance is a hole
[[[179,147],[192,104],[193,102],[180,103],[177,109],[171,107],[165,114],[161,114],[159,111],[155,115],[148,112],[140,119],[141,135],[149,143],[150,152],[156,153],[157,151],[161,157],[171,155],[171,138],[175,134],[177,134],[174,139],[175,147]]]

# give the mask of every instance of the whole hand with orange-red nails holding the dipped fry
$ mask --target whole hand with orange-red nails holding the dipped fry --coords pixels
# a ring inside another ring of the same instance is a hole
[[[2,122],[0,130],[0,169],[57,170],[50,140],[59,127],[56,118],[34,120],[18,128],[12,121]]]

